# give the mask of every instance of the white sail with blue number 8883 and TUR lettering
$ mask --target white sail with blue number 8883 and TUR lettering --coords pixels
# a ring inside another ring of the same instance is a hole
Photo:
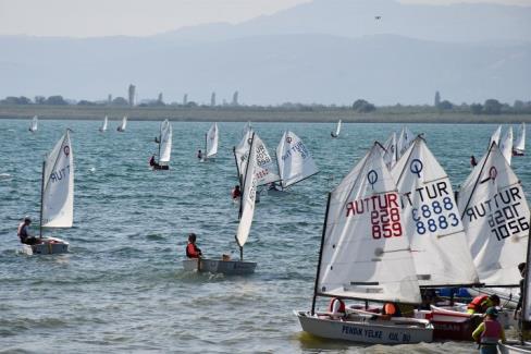
[[[452,183],[425,142],[417,137],[391,171],[403,206],[421,286],[477,284]]]

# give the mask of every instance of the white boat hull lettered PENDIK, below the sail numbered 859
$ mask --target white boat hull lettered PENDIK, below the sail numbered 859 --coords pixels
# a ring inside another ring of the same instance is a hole
[[[433,326],[423,319],[397,317],[385,320],[379,319],[376,315],[349,314],[346,320],[335,320],[325,314],[294,314],[305,332],[321,338],[369,344],[415,344],[433,340]]]

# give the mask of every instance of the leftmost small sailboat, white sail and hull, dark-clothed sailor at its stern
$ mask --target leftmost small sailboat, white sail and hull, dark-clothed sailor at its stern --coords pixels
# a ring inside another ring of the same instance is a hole
[[[69,252],[69,243],[58,237],[42,237],[45,228],[72,228],[74,220],[74,154],[70,131],[59,139],[42,162],[40,194],[41,243],[23,245],[23,252],[33,254],[61,254]]]

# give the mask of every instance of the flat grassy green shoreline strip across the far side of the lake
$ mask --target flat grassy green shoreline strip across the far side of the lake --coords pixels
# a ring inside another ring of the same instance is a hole
[[[38,115],[42,120],[121,120],[183,122],[309,122],[330,123],[530,123],[531,113],[473,114],[465,110],[440,110],[425,106],[394,106],[358,112],[351,107],[296,106],[296,107],[208,107],[208,106],[53,106],[53,105],[0,105],[0,119],[27,119]]]

